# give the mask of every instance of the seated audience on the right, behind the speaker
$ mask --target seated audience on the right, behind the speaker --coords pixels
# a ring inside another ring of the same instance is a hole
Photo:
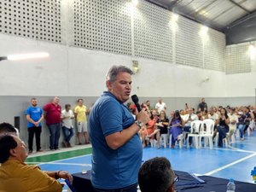
[[[218,147],[223,147],[224,138],[227,137],[230,141],[236,130],[240,140],[244,140],[244,135],[249,131],[253,131],[256,123],[256,107],[241,106],[241,107],[207,107],[205,98],[201,99],[198,108],[189,108],[185,103],[185,108],[171,111],[170,115],[166,115],[166,103],[160,98],[155,107],[150,105],[150,101],[142,103],[142,108],[145,108],[150,117],[147,125],[143,125],[140,130],[143,148],[147,144],[156,140],[157,148],[160,148],[161,135],[172,135],[171,146],[174,148],[175,143],[179,141],[183,133],[191,131],[191,122],[194,120],[212,119],[214,121],[213,139],[218,133]],[[134,113],[136,106],[129,103],[131,113]],[[168,141],[168,140],[166,140]],[[192,143],[192,137],[189,137],[189,144]],[[151,143],[152,144],[152,143]],[[165,145],[166,146],[166,145]]]

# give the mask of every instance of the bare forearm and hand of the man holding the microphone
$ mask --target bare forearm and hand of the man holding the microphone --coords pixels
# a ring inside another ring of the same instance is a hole
[[[146,125],[149,121],[148,113],[143,109],[140,113],[137,114],[137,120],[141,121],[143,125]],[[106,141],[108,147],[112,149],[117,149],[127,143],[131,137],[133,137],[141,129],[136,123],[132,124],[127,129],[122,131],[114,132],[113,134],[108,135]]]

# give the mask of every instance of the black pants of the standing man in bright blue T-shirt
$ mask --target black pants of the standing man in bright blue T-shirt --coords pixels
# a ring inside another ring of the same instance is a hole
[[[33,150],[33,138],[34,135],[36,135],[36,144],[37,144],[37,151],[41,149],[41,142],[40,142],[40,136],[42,127],[41,126],[33,126],[29,127],[28,129],[28,150]]]

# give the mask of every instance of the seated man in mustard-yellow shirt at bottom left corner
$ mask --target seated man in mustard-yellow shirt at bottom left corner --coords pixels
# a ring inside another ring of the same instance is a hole
[[[68,172],[43,172],[38,166],[26,165],[26,145],[19,137],[0,136],[0,191],[4,192],[61,192],[62,184],[56,179],[72,182]]]

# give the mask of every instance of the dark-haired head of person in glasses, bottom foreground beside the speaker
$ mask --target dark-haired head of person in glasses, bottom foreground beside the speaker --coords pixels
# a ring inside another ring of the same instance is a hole
[[[165,157],[145,161],[138,173],[138,183],[142,192],[174,192],[177,178],[172,171],[171,163]]]

